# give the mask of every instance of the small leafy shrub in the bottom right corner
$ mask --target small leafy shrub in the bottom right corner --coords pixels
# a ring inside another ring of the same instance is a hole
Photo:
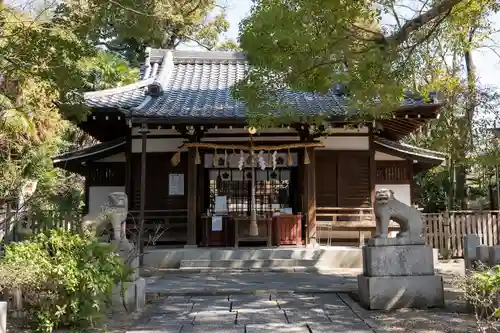
[[[496,332],[500,320],[500,265],[480,265],[469,270],[457,285],[474,311],[478,332]]]

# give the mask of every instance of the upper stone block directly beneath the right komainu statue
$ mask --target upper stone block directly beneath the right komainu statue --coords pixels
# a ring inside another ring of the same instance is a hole
[[[365,246],[363,275],[434,275],[432,248],[425,245]]]

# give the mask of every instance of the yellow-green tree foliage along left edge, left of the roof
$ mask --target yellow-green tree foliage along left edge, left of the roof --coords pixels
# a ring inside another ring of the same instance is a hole
[[[83,119],[88,110],[61,114],[54,101],[79,102],[79,92],[127,84],[138,75],[123,59],[81,39],[54,11],[0,3],[0,198],[15,198],[26,180],[38,180],[32,203],[45,208],[81,192],[81,179],[55,170],[51,157],[88,141],[65,120]]]

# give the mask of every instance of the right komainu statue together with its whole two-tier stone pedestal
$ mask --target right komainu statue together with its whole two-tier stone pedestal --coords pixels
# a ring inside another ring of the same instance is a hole
[[[392,191],[380,190],[375,215],[377,235],[363,247],[363,274],[358,276],[361,303],[372,310],[444,306],[443,278],[434,274],[420,212],[396,200]],[[401,226],[396,238],[387,236],[388,220]]]

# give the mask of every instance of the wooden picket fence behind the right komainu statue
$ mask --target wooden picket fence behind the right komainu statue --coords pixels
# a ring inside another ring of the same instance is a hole
[[[500,211],[449,211],[424,215],[424,235],[429,246],[444,258],[462,258],[463,236],[477,234],[481,244],[500,244]]]

